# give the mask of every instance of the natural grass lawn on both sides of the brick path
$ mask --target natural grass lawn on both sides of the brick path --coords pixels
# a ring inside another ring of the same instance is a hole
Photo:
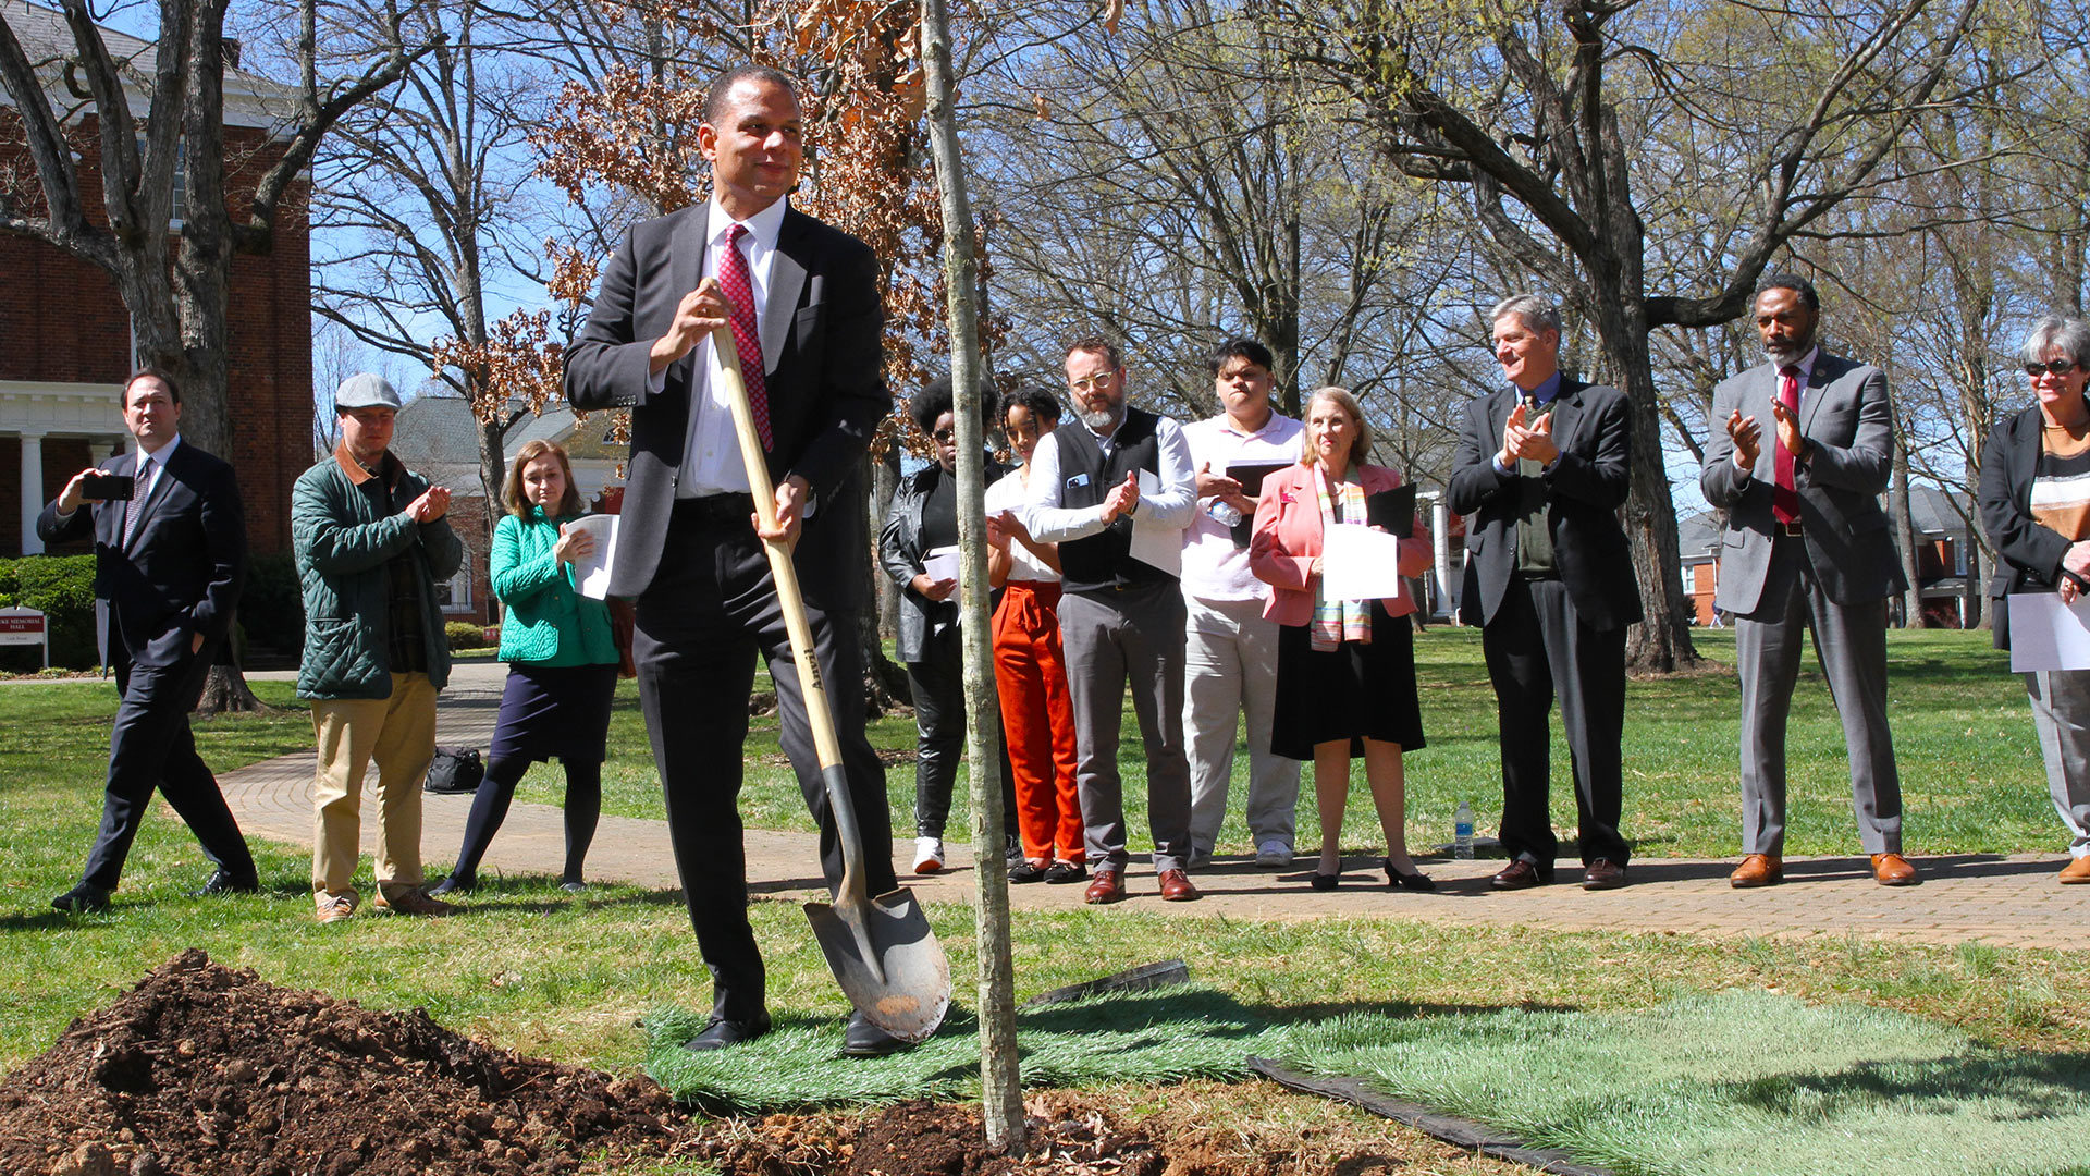
[[[1699,638],[1716,657],[1731,651],[1724,634]],[[1459,795],[1473,797],[1484,814],[1494,810],[1494,705],[1478,640],[1432,630],[1419,649],[1432,747],[1409,760],[1417,841],[1444,837]],[[2059,833],[2023,695],[1985,638],[1896,634],[1891,649],[1910,847],[2052,850]],[[257,693],[288,709],[199,724],[199,745],[217,770],[309,745],[307,711],[288,686],[261,682]],[[75,881],[92,837],[113,711],[115,691],[107,684],[0,686],[0,726],[8,730],[0,745],[0,992],[8,994],[0,1069],[42,1050],[69,1019],[186,946],[255,967],[278,983],[387,1009],[422,1004],[439,1021],[497,1044],[617,1069],[642,1063],[644,1015],[706,1000],[709,979],[677,894],[602,887],[568,898],[550,883],[525,881],[474,900],[464,919],[364,917],[322,929],[303,902],[303,852],[257,845],[263,896],[186,898],[207,864],[186,829],[165,814],[146,822],[113,912],[61,917],[46,904]],[[1628,829],[1643,837],[1643,852],[1731,854],[1733,680],[1705,674],[1636,682],[1630,716]],[[796,789],[775,760],[773,722],[767,728],[752,747],[761,766],[750,768],[748,808],[759,824],[800,827]],[[884,722],[876,739],[907,747],[913,730],[907,720]],[[612,741],[617,808],[658,814],[629,699]],[[1841,743],[1818,680],[1806,680],[1797,695],[1793,745],[1793,852],[1854,852]],[[1127,768],[1137,772],[1133,760]],[[909,766],[897,766],[890,781],[897,824],[905,829]],[[535,799],[556,793],[554,783]],[[1371,829],[1363,808],[1352,822]],[[1310,812],[1302,812],[1302,843],[1310,845]],[[930,917],[959,977],[959,1002],[970,1004],[970,914],[934,906]],[[769,960],[771,1007],[826,1017],[826,1032],[838,1034],[844,1004],[796,904],[759,902],[754,925]],[[1919,1013],[1990,1044],[2090,1046],[2090,1015],[2080,1000],[2090,988],[2090,952],[1534,933],[1361,919],[1262,925],[1129,910],[1022,914],[1016,923],[1018,996],[1166,956],[1187,958],[1198,981],[1277,1019],[1344,1011],[1601,1013],[1758,988]]]

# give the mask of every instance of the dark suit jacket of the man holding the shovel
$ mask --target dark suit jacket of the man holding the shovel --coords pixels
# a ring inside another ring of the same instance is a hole
[[[648,352],[667,333],[704,266],[711,205],[700,203],[631,230],[602,274],[587,326],[566,354],[566,400],[575,408],[631,408],[631,462],[610,592],[637,596],[660,565],[675,506],[696,354],[648,393]],[[878,257],[796,209],[786,211],[757,314],[769,427],[769,475],[796,473],[813,488],[813,515],[798,536],[805,596],[826,609],[863,601],[869,548],[861,458],[892,410],[882,375]],[[748,362],[748,358],[742,358]]]

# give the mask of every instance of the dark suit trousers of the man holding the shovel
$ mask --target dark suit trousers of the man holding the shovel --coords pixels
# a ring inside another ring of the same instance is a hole
[[[692,502],[677,502],[660,567],[637,601],[633,659],[667,799],[675,868],[690,904],[698,952],[711,969],[711,1007],[719,1017],[748,1021],[763,1011],[763,956],[748,927],[738,801],[757,653],[769,661],[775,680],[784,755],[798,774],[805,806],[819,820],[819,866],[830,891],[842,881],[842,847],[828,812],[805,695],[763,546],[748,525],[746,508],[738,517],[727,511],[709,519]],[[865,887],[884,894],[899,881],[892,875],[886,776],[863,737],[857,617],[807,605],[807,619],[842,745],[849,795],[863,831]]]

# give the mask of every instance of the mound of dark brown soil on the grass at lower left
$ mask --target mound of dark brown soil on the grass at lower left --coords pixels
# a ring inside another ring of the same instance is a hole
[[[372,1013],[188,950],[0,1084],[0,1172],[535,1176],[658,1153],[679,1122],[646,1078],[520,1059],[418,1009]]]

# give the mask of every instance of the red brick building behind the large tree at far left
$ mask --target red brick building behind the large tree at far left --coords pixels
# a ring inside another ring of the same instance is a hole
[[[0,0],[29,59],[71,46],[63,17],[23,0]],[[130,61],[127,77],[150,77],[148,42],[102,29],[109,50]],[[138,98],[134,109],[142,111]],[[226,184],[253,186],[278,157],[280,90],[265,77],[226,71]],[[0,96],[0,123],[17,123]],[[88,218],[100,211],[102,176],[94,119],[77,138],[79,190]],[[33,184],[19,123],[0,134],[0,169]],[[27,193],[25,193],[27,195]],[[232,452],[255,555],[291,548],[291,483],[311,462],[311,249],[303,182],[278,209],[274,249],[232,264]],[[31,197],[40,203],[40,193]],[[180,209],[176,209],[180,218]],[[130,314],[115,280],[63,249],[0,234],[0,557],[42,550],[36,515],[79,469],[132,444],[121,385],[134,368]]]

